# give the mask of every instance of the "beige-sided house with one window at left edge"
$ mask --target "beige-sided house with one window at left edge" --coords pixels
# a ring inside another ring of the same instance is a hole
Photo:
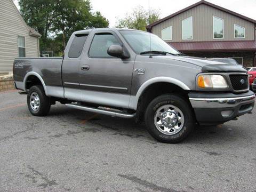
[[[15,58],[39,57],[39,37],[12,0],[0,1],[0,73],[11,72]]]

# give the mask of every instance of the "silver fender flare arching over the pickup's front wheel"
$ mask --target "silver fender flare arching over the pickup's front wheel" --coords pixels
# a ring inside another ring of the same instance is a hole
[[[174,85],[181,87],[183,90],[190,90],[189,87],[185,83],[179,81],[178,79],[175,79],[172,77],[154,77],[154,78],[151,78],[148,81],[144,82],[140,86],[140,89],[137,91],[136,95],[131,95],[131,99],[130,99],[130,103],[129,103],[130,108],[132,108],[134,110],[137,109],[138,101],[139,101],[141,94],[143,93],[143,91],[145,91],[147,89],[148,86],[150,86],[153,83],[172,83]]]

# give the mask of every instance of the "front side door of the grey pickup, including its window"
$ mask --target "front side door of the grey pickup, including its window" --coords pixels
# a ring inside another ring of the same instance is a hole
[[[120,59],[108,55],[110,45],[124,46],[114,31],[95,30],[89,41],[91,45],[83,54],[79,69],[81,100],[127,108],[134,57]]]

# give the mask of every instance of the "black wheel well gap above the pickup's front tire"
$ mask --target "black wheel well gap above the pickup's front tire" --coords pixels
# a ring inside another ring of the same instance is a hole
[[[183,90],[180,86],[166,82],[154,83],[149,85],[140,95],[137,105],[136,121],[143,121],[143,116],[149,103],[159,95],[166,93],[178,94],[183,97],[190,105],[188,92],[186,90]]]

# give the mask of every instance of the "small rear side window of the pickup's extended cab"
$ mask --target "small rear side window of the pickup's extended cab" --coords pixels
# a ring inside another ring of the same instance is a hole
[[[69,58],[78,58],[81,55],[87,36],[87,34],[79,34],[74,37],[68,52]]]

